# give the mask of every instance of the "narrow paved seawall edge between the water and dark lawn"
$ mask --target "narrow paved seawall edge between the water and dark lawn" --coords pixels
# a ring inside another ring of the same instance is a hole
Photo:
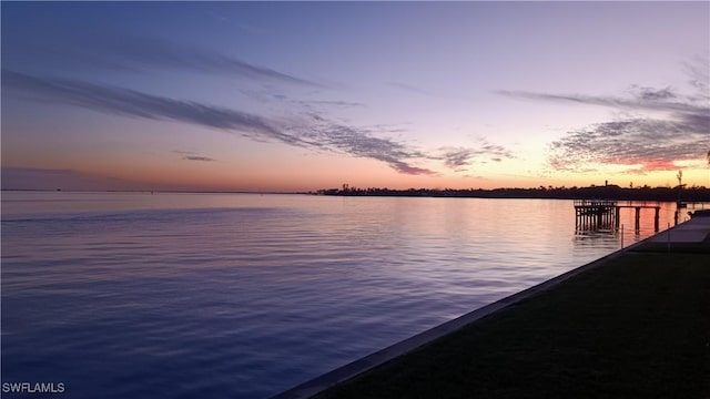
[[[673,226],[670,228],[670,231],[677,228],[678,226],[681,226],[681,224]],[[486,305],[484,307],[480,307],[476,310],[469,311],[463,316],[459,316],[453,320],[446,321],[442,325],[438,325],[436,327],[433,327],[426,331],[419,332],[413,337],[409,337],[405,340],[402,340],[397,344],[394,344],[389,347],[386,347],[385,349],[381,349],[374,354],[367,355],[363,358],[359,358],[357,360],[354,360],[345,366],[338,367],[332,371],[328,371],[324,375],[321,375],[320,377],[316,377],[314,379],[311,379],[306,382],[303,382],[294,388],[291,388],[288,390],[285,390],[276,396],[271,397],[271,399],[302,399],[302,398],[311,398],[317,393],[321,393],[322,391],[334,387],[335,385],[346,381],[348,379],[352,379],[363,372],[366,372],[368,370],[372,370],[373,368],[383,365],[396,357],[406,355],[428,342],[432,342],[435,339],[438,339],[440,337],[444,337],[446,335],[449,335],[456,330],[462,329],[463,327],[479,320],[488,315],[491,315],[496,311],[503,310],[511,305],[515,305],[524,299],[528,299],[531,298],[540,293],[544,293],[557,285],[559,285],[560,283],[572,278],[577,275],[579,275],[580,273],[587,272],[587,270],[591,270],[595,269],[604,264],[606,264],[608,260],[617,258],[623,254],[626,254],[629,250],[632,250],[633,248],[636,248],[637,246],[650,241],[651,238],[656,237],[657,235],[660,234],[668,234],[667,232],[669,232],[669,229],[656,233],[655,235],[647,237],[640,242],[637,242],[632,245],[629,245],[628,247],[618,249],[609,255],[606,255],[604,257],[600,257],[596,260],[592,260],[584,266],[579,266],[577,268],[574,268],[571,270],[568,270],[557,277],[552,277],[546,282],[542,282],[538,285],[535,285],[530,288],[527,288],[525,290],[521,290],[517,294],[513,294],[510,296],[507,296],[503,299],[499,299],[493,304]]]

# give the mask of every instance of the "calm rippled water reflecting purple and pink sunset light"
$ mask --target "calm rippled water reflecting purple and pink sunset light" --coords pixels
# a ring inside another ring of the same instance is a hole
[[[71,398],[266,398],[620,245],[542,200],[7,192],[1,227],[2,381]]]

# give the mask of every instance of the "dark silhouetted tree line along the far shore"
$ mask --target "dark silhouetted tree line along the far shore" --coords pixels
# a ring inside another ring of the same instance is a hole
[[[710,188],[707,187],[629,187],[618,185],[589,187],[552,187],[537,188],[468,188],[468,190],[432,190],[432,188],[357,188],[343,185],[342,188],[320,190],[321,195],[343,196],[420,196],[420,197],[467,197],[467,198],[550,198],[550,200],[616,200],[616,201],[661,201],[661,202],[710,202]]]

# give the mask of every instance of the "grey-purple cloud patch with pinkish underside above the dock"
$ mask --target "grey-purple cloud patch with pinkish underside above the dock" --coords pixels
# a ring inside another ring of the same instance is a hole
[[[689,83],[694,89],[701,89],[694,94],[681,94],[671,88],[639,85],[632,85],[626,96],[523,91],[498,93],[537,101],[599,105],[626,112],[629,114],[626,119],[577,129],[552,142],[549,163],[555,170],[589,172],[606,164],[626,166],[628,173],[642,174],[676,170],[677,161],[699,160],[710,149],[707,79],[707,74],[694,73]]]

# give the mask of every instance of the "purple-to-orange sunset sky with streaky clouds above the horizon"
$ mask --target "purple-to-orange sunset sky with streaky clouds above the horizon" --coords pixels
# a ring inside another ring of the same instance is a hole
[[[2,188],[710,186],[710,2],[8,2]]]

